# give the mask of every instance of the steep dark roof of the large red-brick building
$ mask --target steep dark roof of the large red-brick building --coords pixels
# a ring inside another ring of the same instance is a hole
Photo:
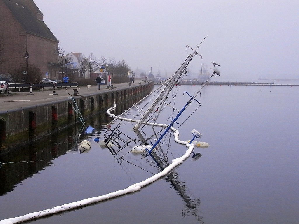
[[[25,32],[59,42],[42,20],[43,14],[32,0],[3,1]]]

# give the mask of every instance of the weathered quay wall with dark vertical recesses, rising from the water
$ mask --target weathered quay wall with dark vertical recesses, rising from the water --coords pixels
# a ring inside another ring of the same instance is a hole
[[[88,118],[103,113],[112,107],[114,102],[119,105],[118,109],[129,108],[147,96],[152,89],[153,82],[149,82],[1,111],[0,151],[9,151],[81,122],[78,114]],[[105,120],[103,119],[103,123]]]

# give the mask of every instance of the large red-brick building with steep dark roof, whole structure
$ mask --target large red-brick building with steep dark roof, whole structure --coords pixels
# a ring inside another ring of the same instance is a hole
[[[28,64],[39,67],[43,77],[48,73],[49,79],[58,78],[59,41],[32,0],[0,0],[0,38],[5,59],[0,74],[26,65],[28,51]]]

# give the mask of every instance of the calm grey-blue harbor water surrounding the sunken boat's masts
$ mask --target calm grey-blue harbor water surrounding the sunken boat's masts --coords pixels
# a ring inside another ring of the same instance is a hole
[[[180,86],[176,108],[189,99],[184,91],[197,90]],[[188,158],[134,194],[34,222],[299,223],[298,94],[298,87],[206,86],[197,97],[202,106],[187,119],[198,107],[193,102],[175,125],[181,140],[190,140],[193,128],[203,135],[200,141],[210,146],[195,148],[201,157]],[[169,148],[167,139],[154,161],[102,148],[93,139],[103,139],[103,121],[109,118],[97,115],[87,121],[95,131],[80,138],[79,124],[0,154],[5,163],[0,168],[0,220],[124,189],[158,173],[187,149],[171,137]],[[91,142],[91,150],[80,154],[83,139]]]

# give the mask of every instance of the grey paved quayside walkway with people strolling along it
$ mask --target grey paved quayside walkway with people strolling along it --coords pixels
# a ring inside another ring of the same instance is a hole
[[[141,85],[145,84],[144,81],[141,82]],[[78,87],[78,93],[81,96],[87,96],[89,94],[94,93],[103,93],[107,91],[111,91],[109,89],[106,89],[107,85],[101,85],[101,89],[97,90],[97,85],[91,86],[89,90],[87,90],[87,87]],[[129,83],[119,83],[119,84],[113,84],[114,88],[122,89],[129,87]],[[139,86],[139,81],[135,81],[135,83],[131,83],[131,86]],[[0,111],[7,111],[17,108],[24,108],[28,106],[33,105],[39,105],[43,103],[50,103],[55,102],[58,100],[63,100],[67,97],[71,97],[74,93],[74,90],[76,87],[68,87],[66,90],[64,87],[56,88],[56,93],[58,95],[51,95],[53,94],[53,88],[52,87],[46,87],[44,91],[32,91],[32,94],[29,95],[29,88],[26,88],[26,92],[9,92],[10,94],[7,95],[6,93],[0,94]],[[70,94],[70,95],[69,95]]]

